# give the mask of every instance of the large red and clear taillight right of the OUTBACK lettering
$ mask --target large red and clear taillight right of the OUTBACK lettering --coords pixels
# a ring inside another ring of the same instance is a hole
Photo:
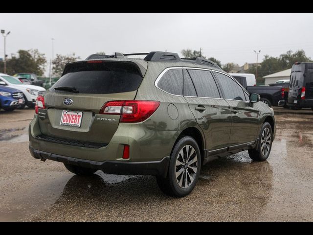
[[[121,115],[120,122],[140,122],[149,118],[159,105],[159,101],[109,101],[103,105],[99,114]]]

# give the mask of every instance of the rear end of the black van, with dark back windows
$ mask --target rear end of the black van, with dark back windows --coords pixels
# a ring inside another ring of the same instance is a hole
[[[301,99],[301,90],[304,85],[305,64],[293,65],[291,69],[291,79],[289,84],[288,102],[297,103]]]

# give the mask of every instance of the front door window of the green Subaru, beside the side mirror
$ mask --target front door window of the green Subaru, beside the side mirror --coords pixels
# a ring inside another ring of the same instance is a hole
[[[214,72],[214,74],[224,93],[225,99],[246,101],[243,89],[233,79],[219,72]]]

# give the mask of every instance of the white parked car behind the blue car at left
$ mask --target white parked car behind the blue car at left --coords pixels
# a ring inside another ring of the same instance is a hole
[[[22,91],[26,101],[25,105],[28,107],[35,107],[37,96],[45,92],[45,88],[43,87],[23,84],[19,79],[4,73],[0,73],[0,85]]]

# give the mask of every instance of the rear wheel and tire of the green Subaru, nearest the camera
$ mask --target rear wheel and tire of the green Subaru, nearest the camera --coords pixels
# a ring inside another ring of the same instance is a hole
[[[190,153],[191,155],[186,161],[187,150],[188,155]],[[185,164],[185,162],[191,164]],[[175,144],[172,150],[167,177],[157,176],[156,182],[164,193],[170,196],[183,197],[195,188],[200,169],[201,155],[198,143],[192,137],[185,136]],[[179,172],[180,174],[176,177],[176,173]]]

